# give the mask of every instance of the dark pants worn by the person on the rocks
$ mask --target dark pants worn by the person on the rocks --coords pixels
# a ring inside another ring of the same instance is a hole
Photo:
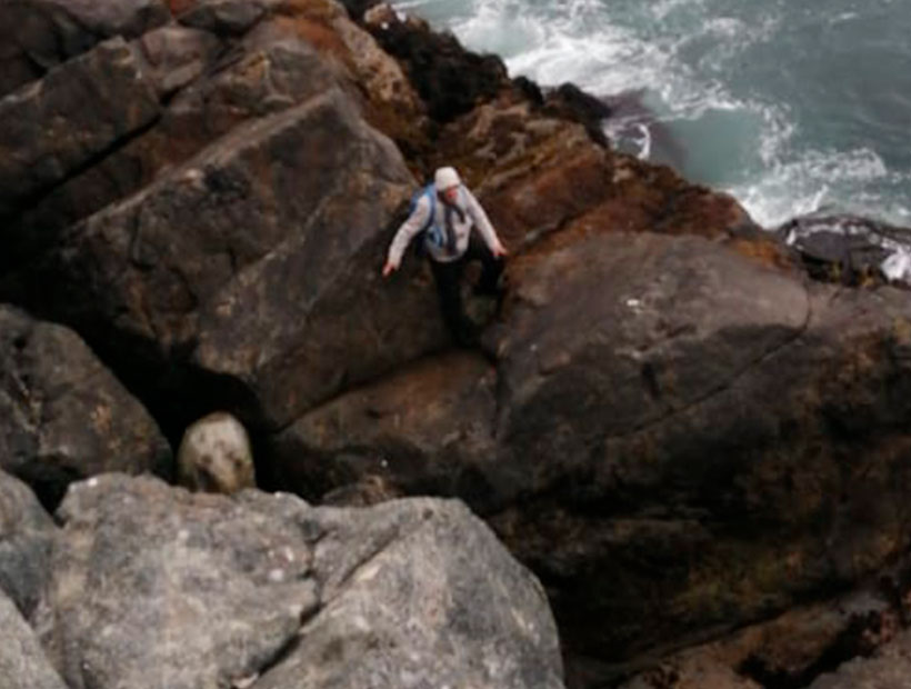
[[[449,263],[441,263],[430,259],[443,320],[452,337],[463,347],[473,344],[478,339],[477,328],[462,310],[462,273],[469,261],[481,262],[481,278],[474,288],[475,292],[498,294],[497,281],[500,279],[500,273],[503,272],[503,261],[493,258],[493,253],[491,253],[488,246],[474,234],[471,236],[468,250],[461,258]]]

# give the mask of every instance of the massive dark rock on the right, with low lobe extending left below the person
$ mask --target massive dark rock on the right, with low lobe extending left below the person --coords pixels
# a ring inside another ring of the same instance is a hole
[[[278,437],[283,485],[461,496],[595,666],[901,551],[902,292],[808,286],[694,237],[554,239],[511,266],[495,377],[439,357],[339,397]]]

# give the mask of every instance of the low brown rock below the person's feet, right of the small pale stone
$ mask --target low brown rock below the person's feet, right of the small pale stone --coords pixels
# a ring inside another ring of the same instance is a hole
[[[495,369],[465,352],[419,361],[343,395],[272,440],[278,483],[311,499],[349,486],[348,500],[359,501],[374,486],[386,495],[460,496],[489,509],[499,469],[495,385]]]

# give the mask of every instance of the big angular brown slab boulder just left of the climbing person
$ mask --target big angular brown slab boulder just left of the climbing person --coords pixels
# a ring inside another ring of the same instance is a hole
[[[7,286],[144,375],[134,385],[162,407],[178,397],[162,385],[192,390],[198,375],[220,406],[277,428],[446,341],[413,262],[379,276],[412,186],[391,141],[330,91],[233,129]]]

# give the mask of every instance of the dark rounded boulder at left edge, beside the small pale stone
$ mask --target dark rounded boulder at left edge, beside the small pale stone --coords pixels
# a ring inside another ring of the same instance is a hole
[[[0,469],[56,505],[96,473],[168,476],[171,450],[78,334],[0,306]]]

